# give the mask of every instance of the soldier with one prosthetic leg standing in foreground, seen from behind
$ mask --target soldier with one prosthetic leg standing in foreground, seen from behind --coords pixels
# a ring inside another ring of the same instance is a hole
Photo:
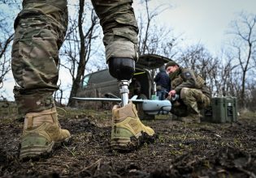
[[[132,0],[93,0],[100,19],[110,73],[129,80],[137,60],[137,22]],[[20,159],[50,155],[54,145],[69,142],[71,134],[61,129],[53,93],[59,89],[59,49],[67,31],[67,0],[24,0],[15,19],[12,73],[15,102],[24,118]],[[139,137],[154,138],[154,130],[141,124],[130,102],[113,110],[111,146],[128,149],[139,146]],[[130,138],[136,138],[131,139]]]

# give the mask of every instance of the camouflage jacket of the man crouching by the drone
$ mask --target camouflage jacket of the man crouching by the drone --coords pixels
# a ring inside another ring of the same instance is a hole
[[[205,80],[200,75],[195,75],[193,70],[180,67],[175,74],[171,74],[171,90],[175,90],[177,94],[183,87],[195,88],[202,91],[210,98],[210,90],[206,87]]]

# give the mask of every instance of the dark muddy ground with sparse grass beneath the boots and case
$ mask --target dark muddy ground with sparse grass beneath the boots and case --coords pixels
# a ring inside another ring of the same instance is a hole
[[[20,162],[23,127],[0,119],[1,177],[256,177],[256,118],[235,123],[184,124],[171,116],[143,120],[158,134],[152,144],[129,153],[112,151],[109,110],[67,109],[59,119],[73,136],[50,159]]]

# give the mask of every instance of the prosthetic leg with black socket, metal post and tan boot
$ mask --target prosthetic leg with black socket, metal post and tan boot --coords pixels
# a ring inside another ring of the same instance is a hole
[[[111,58],[108,62],[110,74],[119,81],[121,106],[112,110],[111,147],[113,150],[133,150],[144,142],[154,142],[154,130],[143,125],[137,109],[128,100],[128,81],[135,71],[135,61],[130,58]]]

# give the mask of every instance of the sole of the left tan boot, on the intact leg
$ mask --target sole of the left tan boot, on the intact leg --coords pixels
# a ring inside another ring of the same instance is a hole
[[[53,155],[53,151],[58,149],[60,146],[67,146],[71,144],[72,138],[66,138],[62,142],[50,142],[47,146],[31,145],[23,146],[20,148],[20,160],[26,161],[29,159],[38,160],[46,159]]]

